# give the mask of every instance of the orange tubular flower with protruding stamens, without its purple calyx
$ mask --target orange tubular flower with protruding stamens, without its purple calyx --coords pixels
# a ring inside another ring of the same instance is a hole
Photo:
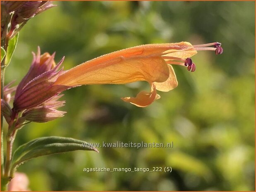
[[[147,81],[151,91],[140,92],[136,97],[123,97],[138,107],[147,107],[160,98],[156,90],[167,92],[177,87],[178,82],[171,64],[188,67],[195,71],[190,59],[197,50],[213,50],[216,55],[223,52],[220,43],[191,45],[188,42],[149,44],[131,47],[97,57],[74,68],[63,71],[54,85],[70,87],[93,84],[125,84]],[[208,47],[213,46],[213,47]]]

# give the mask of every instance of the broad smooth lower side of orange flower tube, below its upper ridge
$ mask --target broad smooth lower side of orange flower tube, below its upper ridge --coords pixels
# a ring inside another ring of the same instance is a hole
[[[95,63],[96,62],[96,63]],[[55,85],[125,84],[134,81],[164,82],[169,69],[161,56],[133,56],[97,62],[91,60],[61,75]]]

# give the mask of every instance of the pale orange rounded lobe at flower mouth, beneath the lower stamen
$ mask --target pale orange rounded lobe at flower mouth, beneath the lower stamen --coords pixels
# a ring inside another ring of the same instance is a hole
[[[154,82],[154,84],[156,85],[156,89],[159,91],[168,92],[178,86],[178,81],[172,66],[168,65],[168,67],[169,67],[168,79],[162,83]]]

